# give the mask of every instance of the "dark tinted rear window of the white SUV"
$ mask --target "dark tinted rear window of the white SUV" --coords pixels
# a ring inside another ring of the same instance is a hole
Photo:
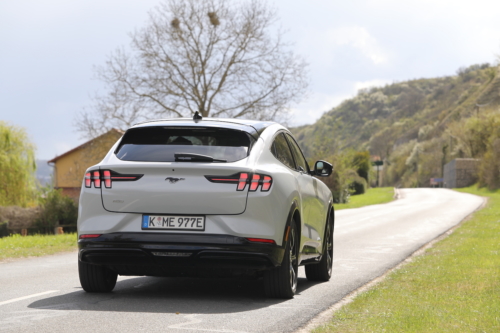
[[[116,149],[124,161],[174,162],[175,154],[200,154],[234,162],[248,156],[254,139],[226,128],[141,127],[128,130]]]

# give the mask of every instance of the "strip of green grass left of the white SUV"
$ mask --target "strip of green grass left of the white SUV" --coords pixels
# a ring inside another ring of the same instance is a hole
[[[39,257],[76,250],[76,234],[11,235],[0,238],[0,260],[7,258]]]

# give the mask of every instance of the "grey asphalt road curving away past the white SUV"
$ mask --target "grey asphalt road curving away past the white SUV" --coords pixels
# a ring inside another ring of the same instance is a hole
[[[336,212],[334,276],[300,271],[292,300],[266,299],[260,281],[119,277],[87,294],[76,252],[0,263],[0,331],[293,332],[459,223],[483,199],[446,189],[404,189],[389,204]]]

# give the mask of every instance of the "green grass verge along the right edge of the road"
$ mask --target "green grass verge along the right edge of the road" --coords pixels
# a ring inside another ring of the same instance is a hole
[[[500,191],[449,237],[313,332],[500,332]]]

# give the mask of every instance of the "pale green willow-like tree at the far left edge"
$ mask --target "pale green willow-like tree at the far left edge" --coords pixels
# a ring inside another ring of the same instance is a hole
[[[35,170],[35,146],[26,131],[0,121],[0,206],[34,204]]]

